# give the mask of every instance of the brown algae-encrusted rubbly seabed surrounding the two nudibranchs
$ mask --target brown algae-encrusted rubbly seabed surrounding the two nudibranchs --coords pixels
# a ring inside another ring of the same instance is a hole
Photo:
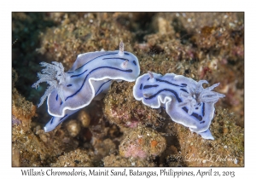
[[[243,15],[13,13],[12,165],[244,166]],[[173,72],[220,83],[216,91],[226,97],[215,104],[209,128],[214,141],[172,122],[164,109],[136,101],[135,83],[124,81],[44,132],[46,104],[33,104],[46,87],[31,88],[39,62],[58,61],[67,71],[77,55],[115,50],[120,41],[137,56],[140,75]]]

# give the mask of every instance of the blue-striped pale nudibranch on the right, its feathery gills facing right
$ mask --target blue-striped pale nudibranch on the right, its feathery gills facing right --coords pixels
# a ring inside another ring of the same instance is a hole
[[[218,84],[206,89],[202,84],[208,84],[207,80],[196,82],[174,73],[162,76],[148,72],[137,78],[133,95],[149,107],[165,107],[173,121],[189,127],[205,139],[214,140],[209,130],[214,104],[225,95],[212,91]]]

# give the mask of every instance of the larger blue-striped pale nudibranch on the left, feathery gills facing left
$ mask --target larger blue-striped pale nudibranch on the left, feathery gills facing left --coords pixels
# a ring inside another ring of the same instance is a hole
[[[124,51],[122,42],[119,50],[78,55],[68,72],[64,72],[62,64],[56,61],[40,64],[45,68],[42,73],[38,72],[39,80],[32,87],[37,89],[43,82],[49,84],[38,104],[40,107],[47,98],[48,113],[53,116],[45,125],[45,132],[54,130],[68,116],[107,93],[113,80],[132,82],[140,73],[137,57]]]

